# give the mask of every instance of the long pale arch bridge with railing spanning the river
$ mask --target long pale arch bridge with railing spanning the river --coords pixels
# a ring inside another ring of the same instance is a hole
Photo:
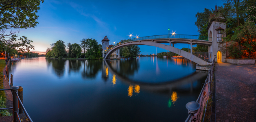
[[[161,44],[161,43],[169,43],[169,45]],[[190,44],[190,53],[186,52],[184,50],[178,49],[174,47],[174,44],[176,43],[183,43],[183,44]],[[171,46],[173,44],[173,46]],[[148,46],[155,46],[158,48],[162,48],[164,50],[168,50],[171,52],[174,52],[176,54],[181,55],[182,57],[185,57],[186,59],[189,59],[199,65],[209,65],[211,63],[211,56],[209,58],[209,62],[204,61],[203,59],[195,56],[192,54],[192,46],[194,44],[200,44],[200,45],[212,45],[212,37],[204,37],[204,36],[197,36],[197,35],[155,35],[155,36],[147,36],[147,37],[138,37],[134,39],[128,39],[126,41],[120,42],[113,47],[105,50],[104,52],[104,59],[108,59],[110,55],[125,46],[131,46],[131,45],[148,45]],[[210,52],[209,52],[210,53]],[[209,54],[210,55],[210,54]]]

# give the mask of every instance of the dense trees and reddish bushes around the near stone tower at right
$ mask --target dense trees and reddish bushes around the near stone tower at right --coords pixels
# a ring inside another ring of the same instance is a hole
[[[226,24],[223,30],[226,37],[219,43],[222,53],[228,52],[231,59],[256,59],[256,1],[255,0],[225,0],[218,12],[205,8],[197,12],[195,25],[202,36],[208,36],[209,19],[215,19]],[[215,17],[210,18],[210,14]],[[223,17],[223,19],[218,17]],[[226,45],[225,45],[226,44]],[[206,50],[208,47],[201,46]],[[206,52],[206,51],[202,51]]]

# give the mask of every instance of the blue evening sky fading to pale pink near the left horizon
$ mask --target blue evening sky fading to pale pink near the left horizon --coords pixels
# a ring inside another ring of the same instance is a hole
[[[107,35],[109,44],[139,37],[176,34],[199,35],[195,26],[197,12],[214,9],[222,0],[44,0],[37,12],[35,28],[20,30],[20,36],[32,40],[35,50],[44,54],[50,44],[62,40],[77,43],[83,38],[99,44]],[[139,46],[140,54],[156,54],[156,47]],[[188,44],[175,44],[188,48]],[[158,48],[159,52],[166,52]]]

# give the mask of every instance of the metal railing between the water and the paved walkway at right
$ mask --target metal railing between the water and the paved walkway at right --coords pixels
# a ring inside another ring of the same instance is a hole
[[[204,85],[203,85],[203,88],[202,88],[202,90],[201,90],[201,92],[200,92],[200,94],[199,94],[199,96],[198,96],[198,98],[197,98],[197,101],[196,102],[198,102],[199,100],[200,100],[200,97],[201,97],[201,95],[202,95],[202,93],[203,93],[203,89],[204,89],[204,87],[206,86],[206,84],[208,83],[208,91],[209,91],[209,93],[211,92],[210,90],[211,90],[211,83],[212,83],[212,78],[213,78],[213,72],[215,72],[215,70],[214,70],[214,66],[215,66],[215,58],[213,59],[213,63],[212,63],[212,67],[211,67],[211,70],[208,70],[208,76],[207,76],[207,78],[206,78],[206,80],[205,80],[205,83],[204,83]],[[214,73],[215,74],[215,73]],[[207,110],[207,103],[208,103],[208,100],[207,100],[207,102],[206,102],[206,108],[204,109],[204,115],[203,115],[203,120],[204,120],[204,118],[205,118],[205,114],[206,114],[206,110]],[[190,118],[193,116],[193,113],[188,113],[189,115],[188,115],[188,118],[186,119],[186,121],[185,122],[189,122],[189,120],[190,120]]]

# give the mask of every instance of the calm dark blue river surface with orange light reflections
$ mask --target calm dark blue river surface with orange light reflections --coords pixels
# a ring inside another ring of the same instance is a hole
[[[35,122],[184,122],[207,73],[184,59],[22,59],[10,68]]]

